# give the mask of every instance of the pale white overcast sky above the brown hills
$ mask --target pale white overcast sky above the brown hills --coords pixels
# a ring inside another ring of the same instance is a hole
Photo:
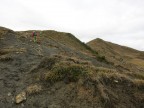
[[[144,51],[144,0],[0,0],[0,26],[70,32]]]

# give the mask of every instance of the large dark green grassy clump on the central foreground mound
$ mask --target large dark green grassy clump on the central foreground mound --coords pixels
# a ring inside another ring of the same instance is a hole
[[[64,80],[65,82],[76,82],[80,78],[86,76],[88,73],[87,69],[80,65],[71,66],[57,66],[52,71],[46,72],[42,80],[56,82]]]

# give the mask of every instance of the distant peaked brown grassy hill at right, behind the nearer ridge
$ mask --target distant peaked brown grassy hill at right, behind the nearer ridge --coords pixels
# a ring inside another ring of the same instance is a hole
[[[144,52],[107,42],[99,38],[88,42],[87,45],[116,65],[120,64],[125,67],[134,64],[140,68],[144,68]]]

